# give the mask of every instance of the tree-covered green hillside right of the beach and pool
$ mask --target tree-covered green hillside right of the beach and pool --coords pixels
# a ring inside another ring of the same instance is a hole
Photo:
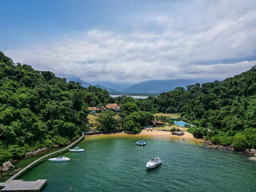
[[[182,120],[198,125],[188,129],[196,137],[237,150],[256,147],[256,66],[222,82],[176,87],[136,104],[152,113],[180,113]]]

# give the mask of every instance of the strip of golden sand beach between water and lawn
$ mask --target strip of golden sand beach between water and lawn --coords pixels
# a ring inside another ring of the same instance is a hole
[[[175,139],[186,139],[186,140],[190,140],[190,141],[196,141],[196,142],[203,142],[203,140],[201,139],[197,139],[195,137],[193,137],[193,135],[191,133],[188,132],[184,132],[185,134],[183,136],[178,136],[178,135],[172,135],[169,131],[157,131],[157,130],[153,130],[153,131],[147,131],[146,129],[143,129],[140,133],[138,134],[131,134],[128,132],[118,132],[118,133],[111,133],[111,134],[100,134],[100,135],[111,135],[111,136],[115,136],[115,135],[134,135],[134,136],[150,136],[150,137],[169,137],[169,138],[175,138]],[[96,135],[90,135],[92,137],[97,136]]]

